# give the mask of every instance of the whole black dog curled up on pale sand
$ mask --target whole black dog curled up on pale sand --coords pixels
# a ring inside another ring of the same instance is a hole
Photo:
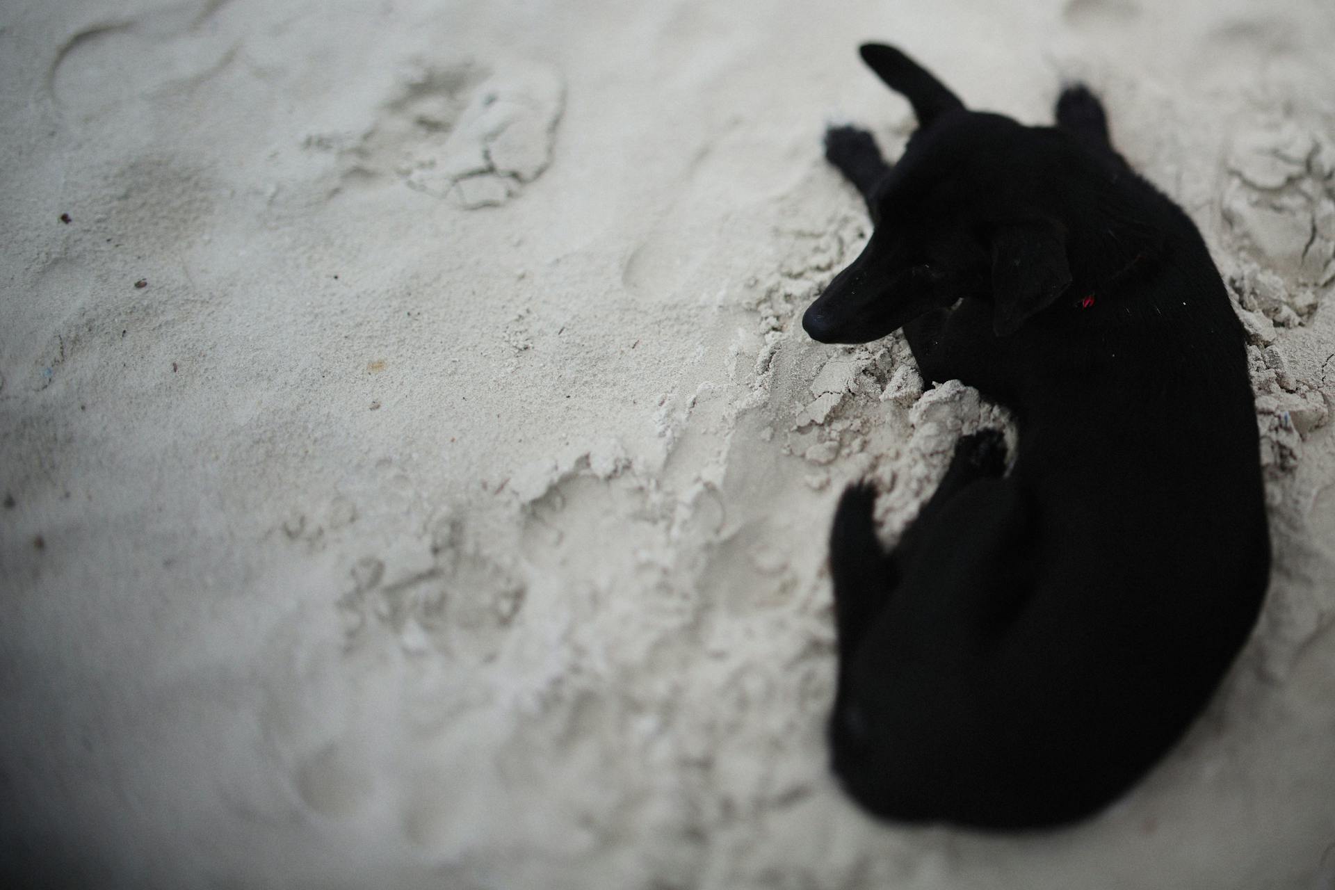
[[[1113,151],[1099,100],[1056,127],[965,111],[890,47],[893,167],[826,135],[874,230],[808,308],[824,343],[902,327],[922,376],[1020,424],[964,438],[893,552],[874,491],[830,535],[833,767],[868,810],[1020,829],[1096,813],[1183,735],[1270,575],[1243,328],[1200,234]],[[951,308],[953,306],[953,308]]]

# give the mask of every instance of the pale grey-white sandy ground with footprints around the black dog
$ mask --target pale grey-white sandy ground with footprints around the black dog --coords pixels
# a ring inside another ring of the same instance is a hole
[[[825,769],[840,488],[893,535],[1004,422],[797,324],[866,235],[822,127],[913,125],[870,37],[1031,123],[1091,83],[1250,330],[1263,622],[1060,833]],[[1332,44],[1318,0],[4,0],[4,869],[1335,886]]]

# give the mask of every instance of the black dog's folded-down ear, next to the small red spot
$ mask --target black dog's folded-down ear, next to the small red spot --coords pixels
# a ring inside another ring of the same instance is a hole
[[[992,328],[1009,336],[1071,284],[1067,230],[1055,219],[1007,223],[992,238]]]

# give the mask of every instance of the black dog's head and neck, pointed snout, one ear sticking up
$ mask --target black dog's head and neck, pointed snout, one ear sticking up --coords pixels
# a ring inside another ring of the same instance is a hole
[[[1068,133],[968,111],[892,47],[861,52],[918,128],[869,197],[866,247],[802,316],[812,339],[866,343],[961,296],[991,302],[1008,336],[1147,250],[1116,172]]]

